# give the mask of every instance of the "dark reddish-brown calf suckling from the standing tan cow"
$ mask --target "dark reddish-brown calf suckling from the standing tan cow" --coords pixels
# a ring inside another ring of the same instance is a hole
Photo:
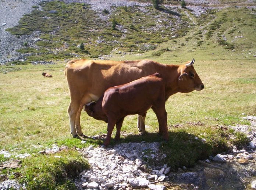
[[[89,116],[108,123],[104,146],[110,143],[115,125],[117,128],[115,140],[120,139],[125,116],[145,115],[149,108],[152,108],[157,116],[160,135],[163,135],[164,140],[168,140],[165,101],[164,81],[158,73],[155,73],[124,85],[110,87],[97,102],[85,104],[84,110]]]

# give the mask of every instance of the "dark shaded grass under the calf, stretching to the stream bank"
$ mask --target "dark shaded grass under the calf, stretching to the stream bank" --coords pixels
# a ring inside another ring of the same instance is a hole
[[[99,136],[97,139],[87,138],[88,143],[102,145],[106,136]],[[163,141],[159,133],[146,133],[145,135],[127,135],[122,137],[119,142],[113,139],[110,141],[109,147],[115,146],[117,143],[140,143],[145,141],[160,142],[160,149],[166,154],[163,160],[172,169],[179,167],[192,167],[200,159],[207,159],[210,155],[216,155],[228,150],[227,143],[217,137],[212,137],[209,141],[202,141],[199,137],[187,133],[185,131],[169,132],[169,140]]]

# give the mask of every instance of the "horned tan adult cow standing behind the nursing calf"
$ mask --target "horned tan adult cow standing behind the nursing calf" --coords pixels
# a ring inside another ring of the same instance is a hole
[[[202,90],[204,85],[193,67],[194,62],[193,59],[185,65],[166,65],[152,60],[70,61],[65,67],[65,75],[70,92],[68,115],[72,136],[83,136],[80,125],[83,105],[97,101],[109,87],[122,85],[157,72],[165,82],[166,100],[177,92]],[[138,115],[137,126],[142,134],[146,132],[145,117],[146,112]]]

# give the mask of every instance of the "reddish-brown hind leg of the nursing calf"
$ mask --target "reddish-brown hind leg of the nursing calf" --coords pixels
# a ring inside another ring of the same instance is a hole
[[[169,139],[168,128],[167,128],[167,112],[165,110],[165,106],[154,107],[152,106],[152,110],[155,112],[158,123],[159,123],[159,134],[163,136],[164,140]]]

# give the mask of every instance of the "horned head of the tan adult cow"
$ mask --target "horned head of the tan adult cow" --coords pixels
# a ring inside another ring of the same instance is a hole
[[[203,90],[205,87],[193,67],[195,60],[179,66],[178,86],[179,92],[192,92],[193,90]]]

